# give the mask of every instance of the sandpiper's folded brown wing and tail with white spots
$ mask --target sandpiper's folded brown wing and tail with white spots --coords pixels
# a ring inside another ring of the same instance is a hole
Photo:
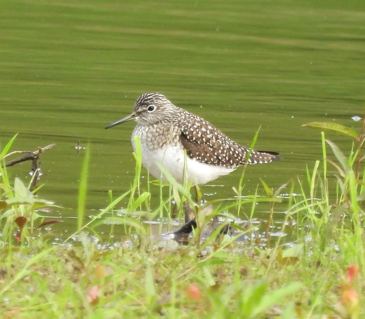
[[[209,122],[186,112],[180,141],[190,158],[199,162],[234,168],[245,164],[247,147],[241,146]],[[268,163],[280,159],[276,152],[251,151],[248,164]]]

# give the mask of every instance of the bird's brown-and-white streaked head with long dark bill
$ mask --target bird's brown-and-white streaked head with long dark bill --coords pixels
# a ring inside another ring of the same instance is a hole
[[[109,124],[110,128],[118,124],[135,120],[141,125],[151,125],[169,119],[173,115],[175,106],[160,93],[145,93],[138,97],[134,103],[133,112],[126,117]]]

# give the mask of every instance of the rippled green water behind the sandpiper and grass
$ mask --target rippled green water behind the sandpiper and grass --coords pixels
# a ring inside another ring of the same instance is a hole
[[[46,186],[39,196],[68,208],[51,213],[63,217],[76,215],[84,150],[74,147],[90,147],[87,215],[96,215],[108,190],[116,197],[134,177],[133,123],[104,127],[129,114],[141,93],[156,91],[242,145],[261,126],[256,148],[283,160],[247,169],[251,194],[259,178],[278,187],[321,158],[319,132],[301,124],[360,130],[351,117],[364,109],[364,60],[365,11],[357,5],[3,0],[0,143],[16,132],[12,150],[57,143],[41,157]],[[346,137],[327,137],[351,146]],[[29,171],[29,163],[8,169],[26,182]],[[231,197],[240,176],[238,169],[203,192]],[[151,191],[157,196],[157,187]],[[256,217],[265,219],[265,209]],[[73,219],[54,226],[75,228]]]

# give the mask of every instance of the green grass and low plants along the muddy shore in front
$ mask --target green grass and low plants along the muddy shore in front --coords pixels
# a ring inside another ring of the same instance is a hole
[[[357,135],[334,123],[306,124],[322,131],[323,159],[307,166],[304,180],[293,177],[276,190],[261,181],[265,197],[257,191],[242,196],[243,169],[234,198],[203,201],[198,189],[194,201],[188,185],[183,187],[171,177],[170,196],[163,198],[161,192],[160,205],[151,208],[149,185],[158,181],[141,186],[137,151],[131,188],[116,199],[110,191],[110,204],[86,222],[88,147],[80,177],[77,230],[62,243],[39,233],[39,228],[61,222],[47,217],[57,203],[35,195],[43,185],[30,191],[34,184],[8,179],[4,157],[15,135],[0,153],[2,318],[362,318],[364,125],[365,121]],[[351,153],[343,154],[324,131],[352,138]],[[330,159],[333,155],[335,161]],[[335,168],[335,179],[329,178],[328,165]],[[328,195],[332,187],[335,198]],[[264,234],[269,233],[275,202],[284,200],[284,188],[289,196],[281,231],[290,229],[290,242],[270,237],[263,248],[255,240],[237,240],[254,228],[235,223],[240,210],[245,207],[250,212],[249,221],[259,201],[268,205]],[[117,214],[121,201],[126,207]],[[172,201],[180,207],[177,216],[171,216]],[[172,217],[182,218],[184,203],[196,220],[188,242],[152,236],[148,221],[168,216],[171,223]],[[218,217],[220,223],[204,234]],[[222,232],[228,223],[233,225],[232,234]],[[101,224],[111,227],[107,249],[92,240]],[[124,227],[127,235],[122,241],[112,238],[114,227]]]

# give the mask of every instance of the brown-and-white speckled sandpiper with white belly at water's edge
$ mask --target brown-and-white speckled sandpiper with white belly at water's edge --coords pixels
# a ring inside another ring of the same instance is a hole
[[[164,170],[180,183],[202,185],[229,174],[243,164],[278,161],[279,153],[251,150],[227,137],[203,118],[177,107],[160,93],[144,93],[133,112],[105,127],[134,120],[131,136],[141,142],[142,165],[164,182]],[[163,169],[161,169],[161,167]]]

